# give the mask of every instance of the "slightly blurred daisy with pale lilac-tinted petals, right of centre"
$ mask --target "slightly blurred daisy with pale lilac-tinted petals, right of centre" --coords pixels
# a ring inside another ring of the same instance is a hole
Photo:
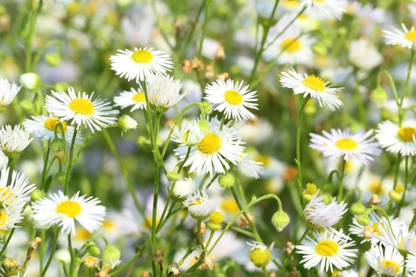
[[[368,132],[361,129],[355,133],[349,129],[331,129],[330,133],[323,131],[323,136],[310,134],[309,147],[322,152],[324,157],[344,157],[345,161],[356,159],[367,164],[381,154],[379,143],[371,137],[373,132],[373,129]]]

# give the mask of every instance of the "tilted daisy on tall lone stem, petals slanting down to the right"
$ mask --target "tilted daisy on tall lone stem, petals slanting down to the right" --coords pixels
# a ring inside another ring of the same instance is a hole
[[[307,74],[302,76],[292,69],[289,73],[281,73],[280,82],[283,87],[293,89],[295,94],[303,94],[304,97],[310,94],[312,98],[317,98],[321,107],[322,104],[328,105],[331,110],[335,110],[336,107],[340,108],[343,105],[343,102],[336,96],[341,89],[336,89],[333,85],[328,87],[329,82],[325,82],[318,76]]]

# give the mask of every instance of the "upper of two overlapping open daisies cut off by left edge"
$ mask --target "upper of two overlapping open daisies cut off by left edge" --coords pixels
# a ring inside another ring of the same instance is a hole
[[[31,199],[31,193],[35,190],[35,184],[29,185],[29,179],[24,174],[12,170],[9,179],[10,168],[6,166],[1,170],[0,177],[0,203],[1,206],[23,206]],[[10,181],[10,184],[9,184]]]

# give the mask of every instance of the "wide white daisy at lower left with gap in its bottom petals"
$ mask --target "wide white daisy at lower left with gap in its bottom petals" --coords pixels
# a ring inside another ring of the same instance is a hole
[[[79,196],[76,193],[69,199],[62,191],[53,193],[49,197],[38,200],[32,204],[33,220],[41,222],[44,226],[58,224],[62,227],[61,233],[75,235],[75,220],[89,233],[103,224],[105,207],[98,205],[98,198]]]

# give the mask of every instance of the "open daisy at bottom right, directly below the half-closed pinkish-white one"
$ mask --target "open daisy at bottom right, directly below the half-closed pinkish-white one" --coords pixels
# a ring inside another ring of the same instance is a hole
[[[343,269],[349,267],[356,258],[357,249],[349,249],[355,242],[343,230],[339,232],[333,229],[322,233],[314,233],[314,238],[306,236],[300,245],[296,246],[297,253],[303,255],[300,261],[306,269],[320,265],[320,271],[328,272],[333,267]]]

